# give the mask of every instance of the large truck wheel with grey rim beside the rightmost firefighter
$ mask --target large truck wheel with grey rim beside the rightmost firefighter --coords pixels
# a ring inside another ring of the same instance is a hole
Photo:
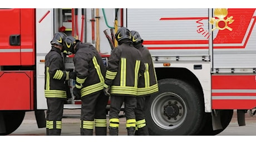
[[[159,80],[159,92],[146,101],[150,135],[195,135],[204,114],[204,102],[193,86],[178,79]]]

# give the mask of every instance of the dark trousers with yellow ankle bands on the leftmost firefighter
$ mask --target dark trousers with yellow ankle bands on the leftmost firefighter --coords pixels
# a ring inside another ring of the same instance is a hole
[[[63,107],[66,99],[47,98],[46,135],[60,136],[62,128]]]

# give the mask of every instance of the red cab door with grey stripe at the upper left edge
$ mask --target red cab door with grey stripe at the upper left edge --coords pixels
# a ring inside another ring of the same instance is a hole
[[[19,45],[10,45],[10,35],[20,34],[20,9],[0,9],[0,65],[20,65]]]

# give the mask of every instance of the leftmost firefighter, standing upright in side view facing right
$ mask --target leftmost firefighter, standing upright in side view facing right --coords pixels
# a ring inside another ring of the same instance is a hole
[[[45,56],[46,135],[51,136],[61,135],[63,106],[69,89],[65,82],[75,74],[65,70],[62,59],[66,37],[65,33],[55,33],[51,40],[52,48]]]

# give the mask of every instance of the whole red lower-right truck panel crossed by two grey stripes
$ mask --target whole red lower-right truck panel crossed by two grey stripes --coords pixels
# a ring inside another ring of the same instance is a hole
[[[212,109],[253,109],[256,107],[255,75],[213,75]]]

